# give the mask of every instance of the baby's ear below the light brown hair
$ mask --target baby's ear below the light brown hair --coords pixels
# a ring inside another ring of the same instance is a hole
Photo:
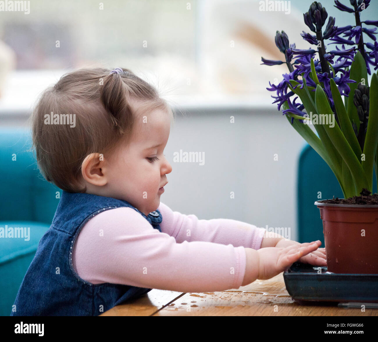
[[[104,166],[104,155],[102,153],[87,155],[81,164],[81,174],[84,180],[96,186],[107,184]]]

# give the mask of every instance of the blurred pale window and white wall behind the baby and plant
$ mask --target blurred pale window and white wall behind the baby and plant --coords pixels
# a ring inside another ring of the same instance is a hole
[[[276,30],[297,48],[310,47],[300,33],[308,32],[302,14],[311,1],[286,3],[285,12],[260,11],[257,0],[33,0],[29,13],[1,11],[0,125],[27,129],[40,92],[68,71],[129,68],[177,113],[165,150],[173,171],[161,201],[202,219],[290,227],[296,240],[297,163],[306,143],[266,90],[286,67],[260,65],[262,56],[283,57]],[[353,25],[353,14],[333,1],[322,5],[336,25]],[[378,17],[376,0],[367,14],[363,20]],[[204,165],[173,162],[180,150],[203,152]]]

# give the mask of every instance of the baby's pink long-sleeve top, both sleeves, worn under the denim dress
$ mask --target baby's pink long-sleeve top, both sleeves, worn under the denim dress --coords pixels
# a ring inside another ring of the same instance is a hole
[[[73,267],[92,283],[180,292],[239,288],[245,247],[259,249],[264,228],[237,220],[199,220],[160,202],[161,232],[129,207],[91,218],[76,238]]]

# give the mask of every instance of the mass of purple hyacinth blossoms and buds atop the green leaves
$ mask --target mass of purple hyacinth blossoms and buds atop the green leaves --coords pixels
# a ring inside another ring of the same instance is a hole
[[[375,38],[377,30],[376,28],[368,29],[363,27],[359,19],[359,12],[369,5],[370,0],[349,0],[349,2],[352,5],[352,8],[343,5],[338,0],[335,0],[335,7],[341,11],[353,13],[355,15],[356,25],[338,27],[335,26],[335,18],[329,17],[323,34],[322,28],[328,17],[327,11],[322,7],[321,3],[311,3],[308,12],[306,12],[303,16],[305,24],[312,32],[315,32],[316,35],[302,31],[301,36],[311,45],[318,45],[320,40],[322,44],[321,46],[315,48],[317,50],[311,48],[307,50],[296,49],[295,44],[289,43],[288,37],[284,31],[276,32],[276,46],[282,53],[285,54],[285,61],[268,60],[264,59],[263,57],[261,60],[263,62],[262,64],[265,65],[280,65],[286,62],[289,68],[290,73],[283,74],[283,79],[279,84],[276,85],[269,82],[270,87],[266,88],[269,91],[275,92],[274,96],[272,95],[272,97],[274,99],[273,103],[277,104],[278,110],[280,110],[282,104],[287,101],[288,109],[283,110],[283,114],[294,113],[301,116],[304,115],[304,105],[296,103],[298,97],[295,97],[294,100],[291,99],[291,97],[294,96],[294,92],[290,91],[292,88],[290,81],[295,80],[297,82],[297,85],[293,88],[299,86],[302,89],[304,87],[304,81],[309,87],[316,88],[317,85],[315,84],[311,73],[311,59],[313,60],[318,80],[321,82],[322,88],[328,97],[333,111],[335,111],[335,104],[333,102],[332,91],[330,88],[330,78],[335,80],[340,94],[348,97],[350,93],[349,84],[356,83],[356,81],[350,79],[349,67],[352,65],[354,56],[358,50],[363,54],[366,60],[367,72],[369,74],[369,65],[373,65],[375,70],[378,69],[378,42]],[[366,20],[362,23],[365,25],[373,25],[378,27],[377,20]],[[364,34],[367,34],[371,39],[373,39],[374,43],[364,43]],[[341,48],[336,45],[335,50],[327,51],[324,44],[325,39],[331,40],[332,43],[330,44],[340,44]],[[345,46],[349,46],[349,48],[345,49]],[[365,51],[364,46],[366,46],[370,52]],[[314,58],[316,53],[319,55],[318,59]],[[294,61],[291,63],[293,59]],[[332,68],[330,68],[329,65],[332,66]],[[302,79],[298,79],[298,75],[301,75]],[[311,91],[314,91],[314,89]],[[293,121],[294,118],[291,118],[292,123]],[[303,122],[303,120],[299,121]],[[337,117],[336,122],[338,122]]]

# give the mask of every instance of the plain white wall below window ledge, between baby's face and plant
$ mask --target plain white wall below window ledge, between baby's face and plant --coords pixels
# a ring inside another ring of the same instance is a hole
[[[178,113],[164,152],[172,172],[161,201],[200,219],[290,227],[290,238],[296,240],[297,159],[304,145],[275,105],[261,110],[192,110],[186,117]],[[180,149],[204,152],[204,165],[173,162]]]

